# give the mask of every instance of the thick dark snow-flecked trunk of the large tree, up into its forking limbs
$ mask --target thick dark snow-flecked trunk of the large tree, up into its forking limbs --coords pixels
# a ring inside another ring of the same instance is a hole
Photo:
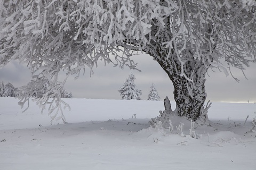
[[[201,117],[206,121],[204,83],[208,67],[201,60],[194,58],[190,49],[183,51],[182,65],[174,50],[163,45],[172,38],[170,23],[168,23],[167,21],[164,30],[157,35],[156,41],[147,45],[144,51],[154,57],[171,79],[174,86],[174,100],[176,101],[175,113],[179,116],[186,116],[188,120],[196,121]]]

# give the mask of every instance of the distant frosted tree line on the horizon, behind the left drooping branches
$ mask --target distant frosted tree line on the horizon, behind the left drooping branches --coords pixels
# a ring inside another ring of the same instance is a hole
[[[45,92],[47,91],[47,86],[49,84],[44,84],[41,90],[38,90],[33,93],[32,97],[41,98]],[[66,89],[61,90],[61,98],[73,98],[71,92],[67,92]],[[4,84],[4,82],[0,83],[0,97],[18,97],[20,96],[20,91],[18,88],[15,88],[12,83]]]

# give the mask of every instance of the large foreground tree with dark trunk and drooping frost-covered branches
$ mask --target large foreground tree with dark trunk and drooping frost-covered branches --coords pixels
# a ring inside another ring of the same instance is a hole
[[[21,105],[50,81],[37,103],[58,109],[61,70],[79,75],[98,60],[136,69],[130,56],[140,50],[171,79],[175,113],[195,121],[206,113],[208,69],[228,74],[256,61],[255,8],[252,0],[0,0],[0,65],[30,67],[34,85],[22,89]]]

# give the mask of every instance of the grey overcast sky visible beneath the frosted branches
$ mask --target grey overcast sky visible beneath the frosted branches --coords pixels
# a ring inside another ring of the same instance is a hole
[[[99,63],[97,68],[94,68],[94,74],[90,77],[88,69],[85,75],[81,75],[79,79],[74,80],[74,77],[69,77],[65,88],[68,92],[72,92],[74,98],[95,98],[95,99],[121,99],[118,89],[123,86],[129,74],[135,75],[135,84],[137,88],[142,90],[141,98],[147,99],[151,83],[155,83],[161,100],[166,96],[170,100],[173,99],[173,85],[167,74],[161,66],[152,57],[147,54],[134,56],[134,60],[138,62],[138,69],[142,72],[124,70],[119,67],[113,67],[109,64],[104,66]],[[223,72],[213,72],[209,70],[208,77],[206,75],[206,100],[215,102],[240,102],[250,103],[256,102],[256,64],[251,64],[246,69],[245,73],[249,80],[246,80],[241,71],[234,70],[234,75],[240,80],[236,82],[231,75],[226,77]],[[0,69],[0,81],[11,82],[14,87],[25,85],[30,80],[30,72],[26,66],[11,62],[3,69]]]

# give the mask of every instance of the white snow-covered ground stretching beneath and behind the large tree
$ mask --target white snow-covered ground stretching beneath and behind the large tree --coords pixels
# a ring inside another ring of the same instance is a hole
[[[66,101],[68,124],[50,125],[33,103],[22,113],[17,99],[0,97],[1,170],[256,169],[256,104],[213,103],[211,126],[195,125],[194,139],[183,118],[172,120],[172,134],[149,127],[163,101]],[[181,122],[186,137],[177,134]]]

